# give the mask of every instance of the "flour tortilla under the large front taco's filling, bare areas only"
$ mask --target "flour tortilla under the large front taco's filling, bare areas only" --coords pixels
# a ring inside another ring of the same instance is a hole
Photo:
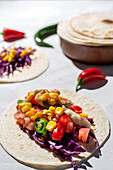
[[[99,145],[102,146],[109,137],[109,121],[101,106],[82,94],[61,89],[61,96],[71,99],[75,105],[83,108],[83,113],[94,118],[95,135]],[[22,99],[22,98],[20,98]],[[70,167],[70,161],[64,161],[55,155],[52,151],[41,148],[34,140],[20,130],[13,115],[16,113],[16,101],[14,101],[0,117],[0,143],[3,148],[16,160],[31,167],[38,168],[61,168]],[[104,122],[104,124],[103,124]],[[91,144],[84,144],[89,152],[82,153],[73,159],[80,163],[81,160],[87,159],[95,150],[94,141]],[[82,142],[81,142],[82,143]]]

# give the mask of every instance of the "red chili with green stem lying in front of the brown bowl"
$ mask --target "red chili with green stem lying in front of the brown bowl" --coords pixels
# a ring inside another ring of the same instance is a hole
[[[84,70],[77,78],[77,85],[76,85],[76,91],[78,89],[78,86],[87,82],[90,82],[92,80],[105,80],[106,75],[105,73],[98,69],[98,68],[89,68],[87,70]]]

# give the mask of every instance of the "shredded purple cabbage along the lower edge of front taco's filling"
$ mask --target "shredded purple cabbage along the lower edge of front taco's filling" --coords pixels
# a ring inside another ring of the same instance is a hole
[[[41,135],[36,133],[36,131],[30,131],[23,126],[21,127],[21,130],[26,132],[33,140],[35,140],[40,147],[49,148],[64,160],[70,160],[72,167],[76,169],[79,168],[79,165],[73,161],[72,156],[86,152],[86,150],[77,143],[78,139],[75,133],[65,133],[61,141],[54,141],[52,140],[52,133],[47,132],[44,141],[40,141]],[[89,135],[95,139],[96,148],[99,150],[98,141],[95,134],[90,130]]]

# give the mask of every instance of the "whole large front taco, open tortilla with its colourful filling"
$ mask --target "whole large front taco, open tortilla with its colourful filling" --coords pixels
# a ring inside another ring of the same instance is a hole
[[[65,89],[31,91],[0,117],[1,145],[32,167],[78,168],[108,136],[109,121],[100,105]]]

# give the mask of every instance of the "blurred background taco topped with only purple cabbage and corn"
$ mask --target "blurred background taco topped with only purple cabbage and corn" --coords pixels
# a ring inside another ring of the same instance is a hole
[[[4,48],[0,53],[0,83],[33,79],[43,73],[48,65],[48,57],[39,49]]]

